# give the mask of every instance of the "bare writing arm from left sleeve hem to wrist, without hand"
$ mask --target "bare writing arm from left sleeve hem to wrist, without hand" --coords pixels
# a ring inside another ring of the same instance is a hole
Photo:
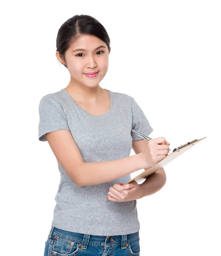
[[[105,183],[145,166],[141,154],[112,161],[85,163],[70,131],[58,130],[45,136],[58,162],[77,186]]]

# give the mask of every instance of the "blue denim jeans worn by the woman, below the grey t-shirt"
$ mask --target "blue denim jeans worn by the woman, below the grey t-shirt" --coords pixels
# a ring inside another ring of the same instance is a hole
[[[119,236],[94,236],[51,228],[44,256],[140,256],[139,231]]]

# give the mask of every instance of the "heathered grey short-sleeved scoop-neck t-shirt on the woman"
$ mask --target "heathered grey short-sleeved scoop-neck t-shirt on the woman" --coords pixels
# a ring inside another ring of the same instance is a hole
[[[105,89],[107,90],[107,89]],[[69,130],[85,162],[103,162],[129,157],[132,140],[142,140],[132,129],[149,135],[153,131],[134,98],[109,92],[111,106],[101,116],[83,110],[66,90],[61,89],[40,99],[39,140],[44,134]],[[55,196],[52,226],[62,230],[95,236],[116,236],[140,230],[137,201],[114,202],[106,199],[109,187],[127,183],[126,175],[109,182],[77,186],[58,162],[60,184]]]

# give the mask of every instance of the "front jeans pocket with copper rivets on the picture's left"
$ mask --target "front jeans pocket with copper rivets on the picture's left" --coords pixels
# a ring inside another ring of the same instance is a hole
[[[74,256],[80,250],[80,246],[75,241],[65,240],[58,236],[53,236],[52,252],[57,256]]]

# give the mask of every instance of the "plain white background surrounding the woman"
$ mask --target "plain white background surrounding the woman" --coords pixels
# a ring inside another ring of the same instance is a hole
[[[135,98],[151,138],[171,150],[207,137],[164,167],[166,184],[137,201],[141,256],[221,255],[219,1],[10,1],[1,21],[2,253],[43,255],[60,182],[38,140],[40,98],[69,83],[56,36],[86,14],[111,40],[100,86]],[[131,155],[134,154],[131,151]],[[135,177],[136,173],[132,174]]]

